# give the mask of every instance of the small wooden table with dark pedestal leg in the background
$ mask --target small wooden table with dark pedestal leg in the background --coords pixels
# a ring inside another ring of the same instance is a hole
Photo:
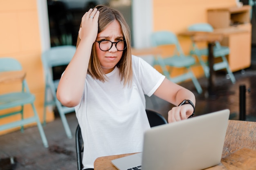
[[[184,31],[180,33],[180,36],[189,36],[194,42],[207,42],[208,44],[208,62],[210,76],[208,79],[208,98],[216,99],[217,93],[214,85],[215,72],[213,70],[214,56],[213,56],[213,46],[216,41],[221,41],[222,38],[227,37],[231,34],[245,33],[248,32],[244,29],[238,29],[236,27],[228,27],[223,29],[214,29],[213,32],[202,32],[202,31]]]

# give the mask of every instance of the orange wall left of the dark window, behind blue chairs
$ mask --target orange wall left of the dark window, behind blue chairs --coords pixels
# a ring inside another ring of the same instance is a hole
[[[29,89],[36,96],[36,110],[42,120],[44,76],[36,0],[1,0],[0,23],[0,57],[14,57],[20,61],[27,73]],[[7,88],[9,86],[0,85],[0,94],[9,91]],[[31,107],[26,106],[25,117],[32,114]],[[1,119],[0,125],[12,119]],[[47,121],[53,119],[52,112],[47,113]],[[0,132],[0,135],[3,133],[5,131]]]

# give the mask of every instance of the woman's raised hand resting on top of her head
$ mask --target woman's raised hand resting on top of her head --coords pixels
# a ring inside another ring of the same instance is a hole
[[[83,15],[79,29],[79,38],[81,40],[86,38],[92,43],[96,40],[98,34],[98,19],[99,11],[97,11],[97,8],[89,9],[89,11]]]

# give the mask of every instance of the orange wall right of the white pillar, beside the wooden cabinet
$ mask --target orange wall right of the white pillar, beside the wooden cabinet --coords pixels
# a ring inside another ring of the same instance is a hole
[[[231,6],[236,6],[235,0],[153,0],[153,31],[169,30],[178,36],[190,24],[207,22],[207,9]],[[181,36],[178,39],[184,53],[188,54],[190,39]],[[193,67],[193,72],[196,77],[204,76],[201,66]]]

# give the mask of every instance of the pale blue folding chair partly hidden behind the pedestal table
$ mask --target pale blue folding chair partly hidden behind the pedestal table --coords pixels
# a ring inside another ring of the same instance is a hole
[[[208,23],[196,23],[192,24],[188,27],[189,31],[200,31],[200,32],[213,32],[213,27]],[[201,64],[201,66],[204,69],[205,77],[210,76],[210,69],[208,66],[208,62],[205,62],[202,59],[202,56],[208,56],[208,49],[207,48],[198,48],[196,43],[192,40],[192,48],[190,51],[191,55],[196,55],[198,57],[198,60]],[[220,42],[216,41],[215,46],[213,47],[213,56],[215,58],[221,57],[222,62],[218,62],[213,64],[213,70],[218,71],[222,69],[227,70],[227,77],[230,77],[231,82],[234,84],[236,82],[236,78],[234,74],[232,73],[231,69],[229,68],[229,63],[227,61],[226,55],[229,54],[229,47],[228,46],[222,46],[220,45]]]

